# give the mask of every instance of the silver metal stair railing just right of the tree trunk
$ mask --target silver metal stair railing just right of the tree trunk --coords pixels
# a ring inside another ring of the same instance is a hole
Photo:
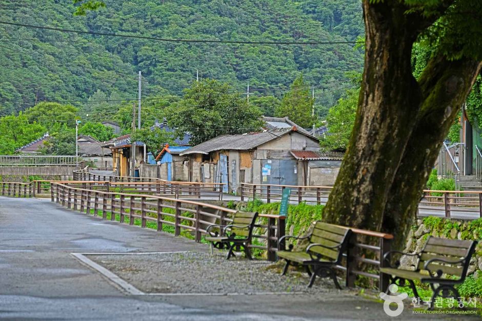
[[[464,143],[447,145],[443,143],[440,147],[436,164],[437,174],[443,178],[453,178],[455,189],[460,190],[460,176],[463,175],[461,168],[464,164]]]

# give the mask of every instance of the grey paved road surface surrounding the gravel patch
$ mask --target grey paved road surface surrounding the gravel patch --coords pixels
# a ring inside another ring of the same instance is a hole
[[[387,319],[381,304],[346,290],[333,290],[329,297],[127,296],[70,255],[207,249],[182,237],[76,213],[48,200],[0,197],[0,319]],[[155,267],[153,273],[162,277]],[[420,316],[405,311],[398,317],[411,318]]]

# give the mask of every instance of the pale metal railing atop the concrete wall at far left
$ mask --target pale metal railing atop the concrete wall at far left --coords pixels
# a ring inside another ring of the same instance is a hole
[[[0,155],[0,166],[76,166],[80,161],[77,156]]]

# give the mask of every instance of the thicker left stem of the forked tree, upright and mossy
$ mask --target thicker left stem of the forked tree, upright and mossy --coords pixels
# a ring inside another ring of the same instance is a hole
[[[328,222],[381,228],[389,186],[421,101],[410,65],[418,32],[406,10],[398,2],[364,2],[362,89],[350,144],[324,210]]]

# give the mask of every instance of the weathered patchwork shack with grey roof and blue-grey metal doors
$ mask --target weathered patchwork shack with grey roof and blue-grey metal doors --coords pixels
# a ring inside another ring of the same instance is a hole
[[[304,160],[292,151],[319,151],[319,141],[298,127],[242,135],[221,135],[186,149],[192,182],[227,183],[224,192],[236,192],[240,183],[304,184]]]

